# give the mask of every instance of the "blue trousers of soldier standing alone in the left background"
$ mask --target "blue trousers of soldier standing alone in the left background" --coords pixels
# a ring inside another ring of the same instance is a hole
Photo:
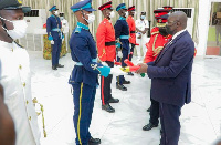
[[[62,40],[61,39],[54,40],[54,44],[52,44],[52,66],[59,64],[61,49],[62,49]]]

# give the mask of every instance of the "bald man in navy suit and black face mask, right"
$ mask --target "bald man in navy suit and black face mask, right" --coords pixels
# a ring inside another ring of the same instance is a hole
[[[178,145],[181,107],[191,101],[193,41],[186,30],[187,15],[178,11],[168,18],[167,32],[172,35],[154,62],[139,64],[137,73],[151,79],[151,97],[159,102],[160,145]]]

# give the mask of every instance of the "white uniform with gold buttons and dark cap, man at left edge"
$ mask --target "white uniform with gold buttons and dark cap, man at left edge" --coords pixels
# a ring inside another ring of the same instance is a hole
[[[30,7],[22,7],[18,0],[1,0],[0,10],[2,9],[31,11]],[[2,20],[4,21],[6,19]],[[38,117],[31,94],[29,54],[18,43],[0,40],[0,61],[2,69],[0,84],[4,89],[4,103],[14,122],[15,144],[40,145]]]

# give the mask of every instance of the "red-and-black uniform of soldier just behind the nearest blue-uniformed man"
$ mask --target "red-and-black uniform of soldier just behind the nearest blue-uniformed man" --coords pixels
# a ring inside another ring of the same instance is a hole
[[[112,1],[102,4],[98,8],[101,11],[105,9],[112,9]],[[112,22],[104,18],[104,20],[99,23],[97,33],[97,50],[98,50],[98,58],[102,62],[106,62],[108,66],[114,68],[114,60],[116,59],[116,45],[115,45],[115,30]],[[102,106],[103,110],[108,107],[107,112],[115,112],[115,110],[109,106],[109,101],[113,100],[117,103],[118,100],[113,99],[112,96],[112,79],[113,75],[109,74],[107,77],[101,76],[101,97],[102,97]],[[106,107],[104,108],[104,106]]]

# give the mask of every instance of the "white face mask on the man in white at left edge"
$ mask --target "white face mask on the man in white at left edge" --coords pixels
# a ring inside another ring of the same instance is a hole
[[[1,19],[13,23],[13,28],[14,28],[13,30],[7,30],[6,28],[2,27],[13,40],[21,39],[27,34],[27,28],[28,28],[27,21],[24,21],[24,20],[10,21],[10,20],[6,20],[3,18],[1,18]]]

